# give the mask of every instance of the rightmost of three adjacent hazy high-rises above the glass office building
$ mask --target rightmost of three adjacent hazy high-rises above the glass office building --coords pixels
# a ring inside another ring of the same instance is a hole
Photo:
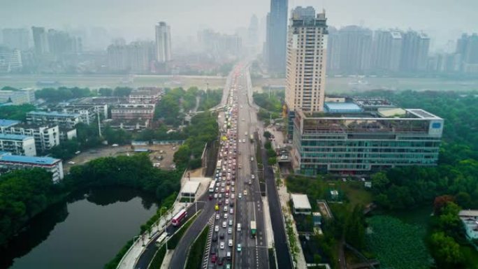
[[[430,38],[417,31],[403,33],[400,69],[405,72],[425,71],[428,61]]]

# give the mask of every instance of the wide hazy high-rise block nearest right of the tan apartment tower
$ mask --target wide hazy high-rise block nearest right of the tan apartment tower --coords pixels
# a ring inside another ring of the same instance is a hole
[[[340,69],[346,73],[361,73],[370,69],[372,31],[351,25],[339,30]]]

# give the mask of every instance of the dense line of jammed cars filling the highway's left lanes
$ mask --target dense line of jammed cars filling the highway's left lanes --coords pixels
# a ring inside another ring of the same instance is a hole
[[[231,268],[233,252],[241,252],[240,243],[234,242],[234,229],[240,232],[241,224],[235,223],[235,201],[242,194],[237,191],[236,179],[238,163],[238,108],[236,81],[234,75],[227,104],[224,108],[224,124],[219,126],[221,141],[215,170],[215,178],[210,182],[209,199],[215,200],[215,223],[210,247],[210,263],[213,268]],[[219,115],[219,117],[221,117]],[[220,119],[220,118],[219,118]],[[219,121],[221,122],[221,121]]]

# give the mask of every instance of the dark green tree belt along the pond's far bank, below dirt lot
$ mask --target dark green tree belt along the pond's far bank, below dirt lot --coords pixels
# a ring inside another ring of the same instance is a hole
[[[147,154],[104,157],[73,166],[65,180],[72,189],[124,186],[155,193],[161,201],[180,189],[181,172],[154,168]]]

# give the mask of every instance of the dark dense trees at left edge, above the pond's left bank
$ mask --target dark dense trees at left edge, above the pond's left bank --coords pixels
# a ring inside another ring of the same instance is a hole
[[[31,217],[58,201],[61,191],[43,169],[15,170],[0,176],[0,246]]]

